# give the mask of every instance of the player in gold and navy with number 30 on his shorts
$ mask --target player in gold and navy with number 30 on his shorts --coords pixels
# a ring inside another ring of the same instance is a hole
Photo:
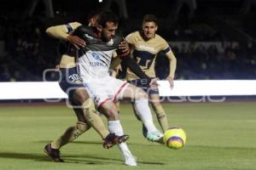
[[[95,18],[95,14],[91,15],[90,26],[96,25]],[[123,142],[128,138],[127,135],[119,137],[108,132],[108,129],[102,122],[101,116],[96,114],[94,102],[90,99],[89,94],[87,94],[84,85],[81,82],[82,80],[79,78],[76,70],[75,55],[66,54],[66,51],[68,51],[71,46],[79,48],[85,45],[85,42],[82,39],[72,36],[72,31],[78,26],[81,26],[81,24],[73,22],[67,25],[51,26],[46,30],[47,34],[51,37],[59,38],[63,41],[58,48],[61,57],[60,63],[58,63],[59,71],[61,73],[59,85],[61,89],[67,93],[69,102],[71,102],[72,105],[75,105],[73,111],[75,111],[75,115],[78,119],[78,122],[73,126],[67,127],[67,130],[62,133],[59,138],[44,146],[44,152],[55,162],[63,161],[60,156],[61,147],[72,142],[74,139],[77,139],[82,133],[88,131],[90,127],[94,127],[96,132],[101,135],[103,147],[106,149],[109,149],[114,144]],[[69,45],[69,43],[72,45]],[[129,50],[128,46],[127,48],[127,50]]]

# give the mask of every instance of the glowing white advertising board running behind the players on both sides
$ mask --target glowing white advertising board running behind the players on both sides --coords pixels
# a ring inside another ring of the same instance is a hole
[[[159,81],[160,96],[256,95],[256,80]],[[0,82],[0,99],[67,99],[58,82]]]

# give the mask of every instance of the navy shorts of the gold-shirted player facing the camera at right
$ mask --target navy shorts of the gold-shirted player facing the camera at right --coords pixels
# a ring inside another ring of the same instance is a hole
[[[147,79],[136,79],[132,81],[128,81],[131,84],[137,86],[138,88],[143,88],[145,92],[150,94],[159,94],[158,88],[150,88],[149,82]]]

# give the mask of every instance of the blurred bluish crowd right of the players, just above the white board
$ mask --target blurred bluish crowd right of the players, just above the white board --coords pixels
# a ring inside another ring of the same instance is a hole
[[[173,53],[177,56],[177,79],[255,79],[256,53],[251,42],[247,46],[236,45],[231,42],[222,42],[224,50],[219,50],[212,43],[209,47],[202,44],[196,48],[190,43],[189,48],[177,48],[171,45]],[[168,60],[159,55],[156,72],[160,78],[167,76]]]

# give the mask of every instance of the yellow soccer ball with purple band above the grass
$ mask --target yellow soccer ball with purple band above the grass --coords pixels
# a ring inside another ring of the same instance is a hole
[[[164,143],[168,148],[178,150],[186,143],[186,133],[180,127],[170,127],[164,133]]]

